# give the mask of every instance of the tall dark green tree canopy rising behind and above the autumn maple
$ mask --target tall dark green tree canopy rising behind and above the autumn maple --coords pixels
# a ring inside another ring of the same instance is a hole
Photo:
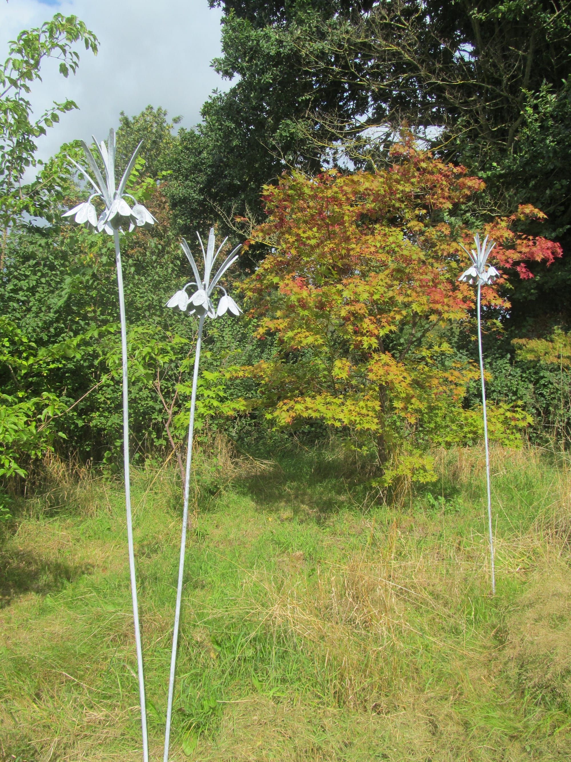
[[[474,212],[532,203],[547,213],[563,260],[512,283],[512,314],[517,324],[569,322],[569,5],[212,5],[224,12],[215,67],[239,79],[205,104],[204,123],[173,162],[170,198],[183,229],[260,216],[260,185],[285,168],[312,173],[343,152],[372,168],[406,121],[485,179]],[[380,138],[364,131],[371,126],[383,128]]]

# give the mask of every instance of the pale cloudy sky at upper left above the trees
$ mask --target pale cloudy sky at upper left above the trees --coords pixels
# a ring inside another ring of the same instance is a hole
[[[67,79],[58,62],[44,64],[43,81],[30,95],[34,113],[65,98],[79,108],[62,114],[38,139],[38,158],[72,139],[103,139],[118,126],[120,111],[133,116],[148,104],[193,126],[212,90],[229,87],[210,66],[220,53],[221,13],[207,0],[0,0],[0,60],[8,55],[8,40],[57,12],[85,21],[100,45],[97,56],[78,47],[78,70]]]

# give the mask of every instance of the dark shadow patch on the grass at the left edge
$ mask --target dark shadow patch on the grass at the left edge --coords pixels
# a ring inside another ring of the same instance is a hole
[[[24,593],[47,594],[91,573],[90,564],[44,559],[30,550],[0,550],[0,608]]]

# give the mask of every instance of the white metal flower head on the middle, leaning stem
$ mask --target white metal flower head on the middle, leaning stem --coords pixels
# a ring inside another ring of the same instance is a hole
[[[187,255],[187,259],[190,262],[190,267],[193,268],[195,280],[190,280],[189,283],[186,283],[182,289],[180,289],[180,291],[177,291],[174,296],[171,296],[171,299],[168,300],[165,306],[178,307],[178,309],[182,310],[182,312],[187,312],[187,315],[197,315],[199,318],[208,316],[211,320],[219,318],[220,315],[224,315],[225,312],[231,312],[232,315],[240,315],[240,307],[238,307],[231,296],[228,296],[228,293],[226,293],[225,289],[222,286],[218,285],[218,282],[228,270],[228,267],[231,267],[231,265],[234,264],[234,262],[238,259],[238,250],[241,248],[241,244],[234,248],[233,251],[231,251],[231,254],[228,255],[222,266],[219,268],[219,271],[215,274],[212,280],[210,280],[212,267],[214,266],[220,251],[222,251],[222,247],[225,245],[225,242],[228,241],[228,238],[225,238],[224,241],[222,241],[222,243],[219,245],[218,251],[216,251],[215,254],[214,228],[210,229],[206,252],[204,251],[202,239],[198,233],[196,233],[196,235],[198,235],[200,248],[203,250],[204,278],[200,277],[198,267],[196,267],[196,262],[194,261],[193,255],[190,252],[190,246],[183,239],[180,245],[182,246],[184,253]],[[187,288],[189,286],[196,286],[196,291],[190,296],[187,294]],[[224,292],[219,300],[216,309],[214,308],[214,304],[212,303],[211,299],[212,292],[215,288],[218,288]]]

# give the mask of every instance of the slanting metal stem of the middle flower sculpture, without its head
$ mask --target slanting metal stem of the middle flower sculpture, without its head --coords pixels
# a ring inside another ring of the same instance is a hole
[[[196,384],[198,383],[198,366],[200,362],[200,346],[203,341],[204,315],[198,324],[196,340],[196,357],[194,358],[193,392],[190,397],[190,421],[188,424],[187,472],[184,477],[184,507],[183,531],[180,538],[180,559],[178,562],[177,605],[174,610],[173,650],[171,653],[171,677],[168,683],[167,727],[164,732],[164,762],[168,762],[168,744],[171,739],[171,716],[173,711],[174,669],[177,663],[178,626],[180,620],[180,600],[183,595],[184,552],[187,546],[188,494],[190,485],[190,463],[193,457],[194,405],[196,402]]]

